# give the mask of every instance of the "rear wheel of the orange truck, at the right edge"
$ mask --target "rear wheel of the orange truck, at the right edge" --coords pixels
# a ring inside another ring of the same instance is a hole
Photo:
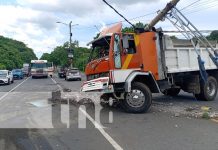
[[[195,94],[197,100],[213,101],[217,96],[217,80],[210,76],[206,83],[201,84],[201,93]]]

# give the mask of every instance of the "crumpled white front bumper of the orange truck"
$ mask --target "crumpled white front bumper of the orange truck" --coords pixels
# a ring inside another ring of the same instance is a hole
[[[112,85],[109,85],[109,77],[103,77],[84,82],[81,91],[113,93],[114,89]]]

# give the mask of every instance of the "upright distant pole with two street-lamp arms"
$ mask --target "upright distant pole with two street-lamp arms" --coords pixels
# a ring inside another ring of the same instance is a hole
[[[70,21],[69,24],[63,23],[63,22],[57,22],[57,23],[61,23],[61,24],[69,26],[70,41],[69,41],[69,49],[68,49],[68,59],[70,61],[70,68],[73,68],[73,49],[72,49],[72,36],[73,36],[73,34],[72,34],[72,27],[78,26],[79,24],[73,24],[72,25],[72,21]]]

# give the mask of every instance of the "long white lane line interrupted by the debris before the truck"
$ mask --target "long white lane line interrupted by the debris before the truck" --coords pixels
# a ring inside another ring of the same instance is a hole
[[[54,79],[52,79],[52,81],[55,84],[57,84],[57,82]],[[59,84],[57,84],[57,86],[60,88],[60,90],[63,89]],[[98,129],[98,131],[105,137],[105,139],[114,147],[114,149],[123,150],[123,148],[85,110],[83,110],[82,108],[79,108],[79,110],[86,116],[86,118],[89,119],[89,121],[91,121],[91,123],[96,127],[96,129]]]

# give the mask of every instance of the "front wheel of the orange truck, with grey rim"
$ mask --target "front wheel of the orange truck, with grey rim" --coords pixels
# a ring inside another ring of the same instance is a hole
[[[132,90],[125,94],[125,99],[121,101],[121,106],[128,113],[147,112],[152,103],[150,89],[143,83],[133,82]]]

